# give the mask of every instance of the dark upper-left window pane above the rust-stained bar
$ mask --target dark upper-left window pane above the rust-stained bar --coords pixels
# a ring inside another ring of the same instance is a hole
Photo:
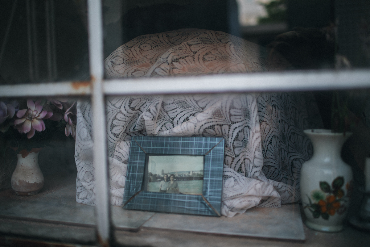
[[[0,83],[87,80],[85,1],[1,1]]]

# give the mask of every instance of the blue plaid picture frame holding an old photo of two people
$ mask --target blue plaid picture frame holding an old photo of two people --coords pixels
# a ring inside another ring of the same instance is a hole
[[[132,137],[125,209],[221,216],[224,138]]]

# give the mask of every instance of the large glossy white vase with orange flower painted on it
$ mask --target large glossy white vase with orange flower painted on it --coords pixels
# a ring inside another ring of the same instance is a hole
[[[313,145],[313,156],[302,165],[300,173],[305,224],[319,231],[341,231],[352,191],[352,170],[340,152],[351,133],[304,132]]]

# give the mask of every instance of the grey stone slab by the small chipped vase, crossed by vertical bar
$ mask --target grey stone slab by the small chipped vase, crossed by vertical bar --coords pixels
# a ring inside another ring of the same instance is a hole
[[[11,189],[1,191],[0,217],[95,226],[95,208],[76,202],[74,176],[63,181],[47,181],[50,184],[34,196],[17,196]],[[126,230],[137,230],[155,214],[115,206],[111,210],[114,226]]]

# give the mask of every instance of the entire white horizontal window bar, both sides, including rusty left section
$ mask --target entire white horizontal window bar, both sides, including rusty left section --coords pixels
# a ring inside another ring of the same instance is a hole
[[[250,74],[104,80],[106,95],[349,90],[370,88],[370,70],[283,71]],[[89,81],[0,86],[0,97],[90,96]]]

